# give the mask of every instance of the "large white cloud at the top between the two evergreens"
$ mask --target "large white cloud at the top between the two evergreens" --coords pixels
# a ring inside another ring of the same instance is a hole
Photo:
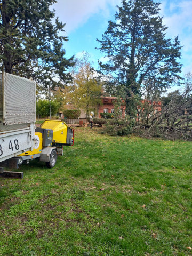
[[[59,20],[66,23],[65,30],[69,34],[72,30],[86,23],[92,14],[100,12],[103,17],[108,17],[108,5],[115,7],[120,3],[121,0],[58,0],[53,7]]]

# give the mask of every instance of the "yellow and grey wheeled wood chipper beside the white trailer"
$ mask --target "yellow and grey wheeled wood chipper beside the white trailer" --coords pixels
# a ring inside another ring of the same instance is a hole
[[[40,128],[35,129],[35,146],[33,151],[27,151],[17,156],[18,164],[29,163],[39,159],[52,168],[57,162],[57,156],[63,155],[63,146],[74,145],[74,130],[60,120],[45,120]]]

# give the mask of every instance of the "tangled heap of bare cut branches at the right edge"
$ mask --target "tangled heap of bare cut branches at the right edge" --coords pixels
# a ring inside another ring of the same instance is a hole
[[[166,105],[161,102],[146,102],[137,107],[133,132],[137,135],[162,137],[170,140],[192,140],[192,76],[187,77],[185,88],[179,94],[172,94]]]

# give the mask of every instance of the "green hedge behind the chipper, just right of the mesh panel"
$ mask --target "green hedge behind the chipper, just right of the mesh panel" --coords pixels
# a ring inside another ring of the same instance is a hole
[[[44,118],[50,115],[50,102],[49,100],[39,100],[39,117]],[[51,100],[51,116],[59,111],[59,103]],[[36,114],[37,114],[37,101],[36,101]]]

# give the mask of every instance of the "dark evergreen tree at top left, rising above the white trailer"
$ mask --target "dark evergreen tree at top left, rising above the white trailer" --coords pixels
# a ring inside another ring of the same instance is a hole
[[[74,65],[73,57],[65,58],[60,36],[65,24],[55,19],[50,6],[55,0],[0,1],[0,65],[1,70],[32,77],[45,86],[62,86],[71,81],[66,70]],[[57,79],[55,79],[57,78]],[[62,83],[56,81],[62,81]]]

